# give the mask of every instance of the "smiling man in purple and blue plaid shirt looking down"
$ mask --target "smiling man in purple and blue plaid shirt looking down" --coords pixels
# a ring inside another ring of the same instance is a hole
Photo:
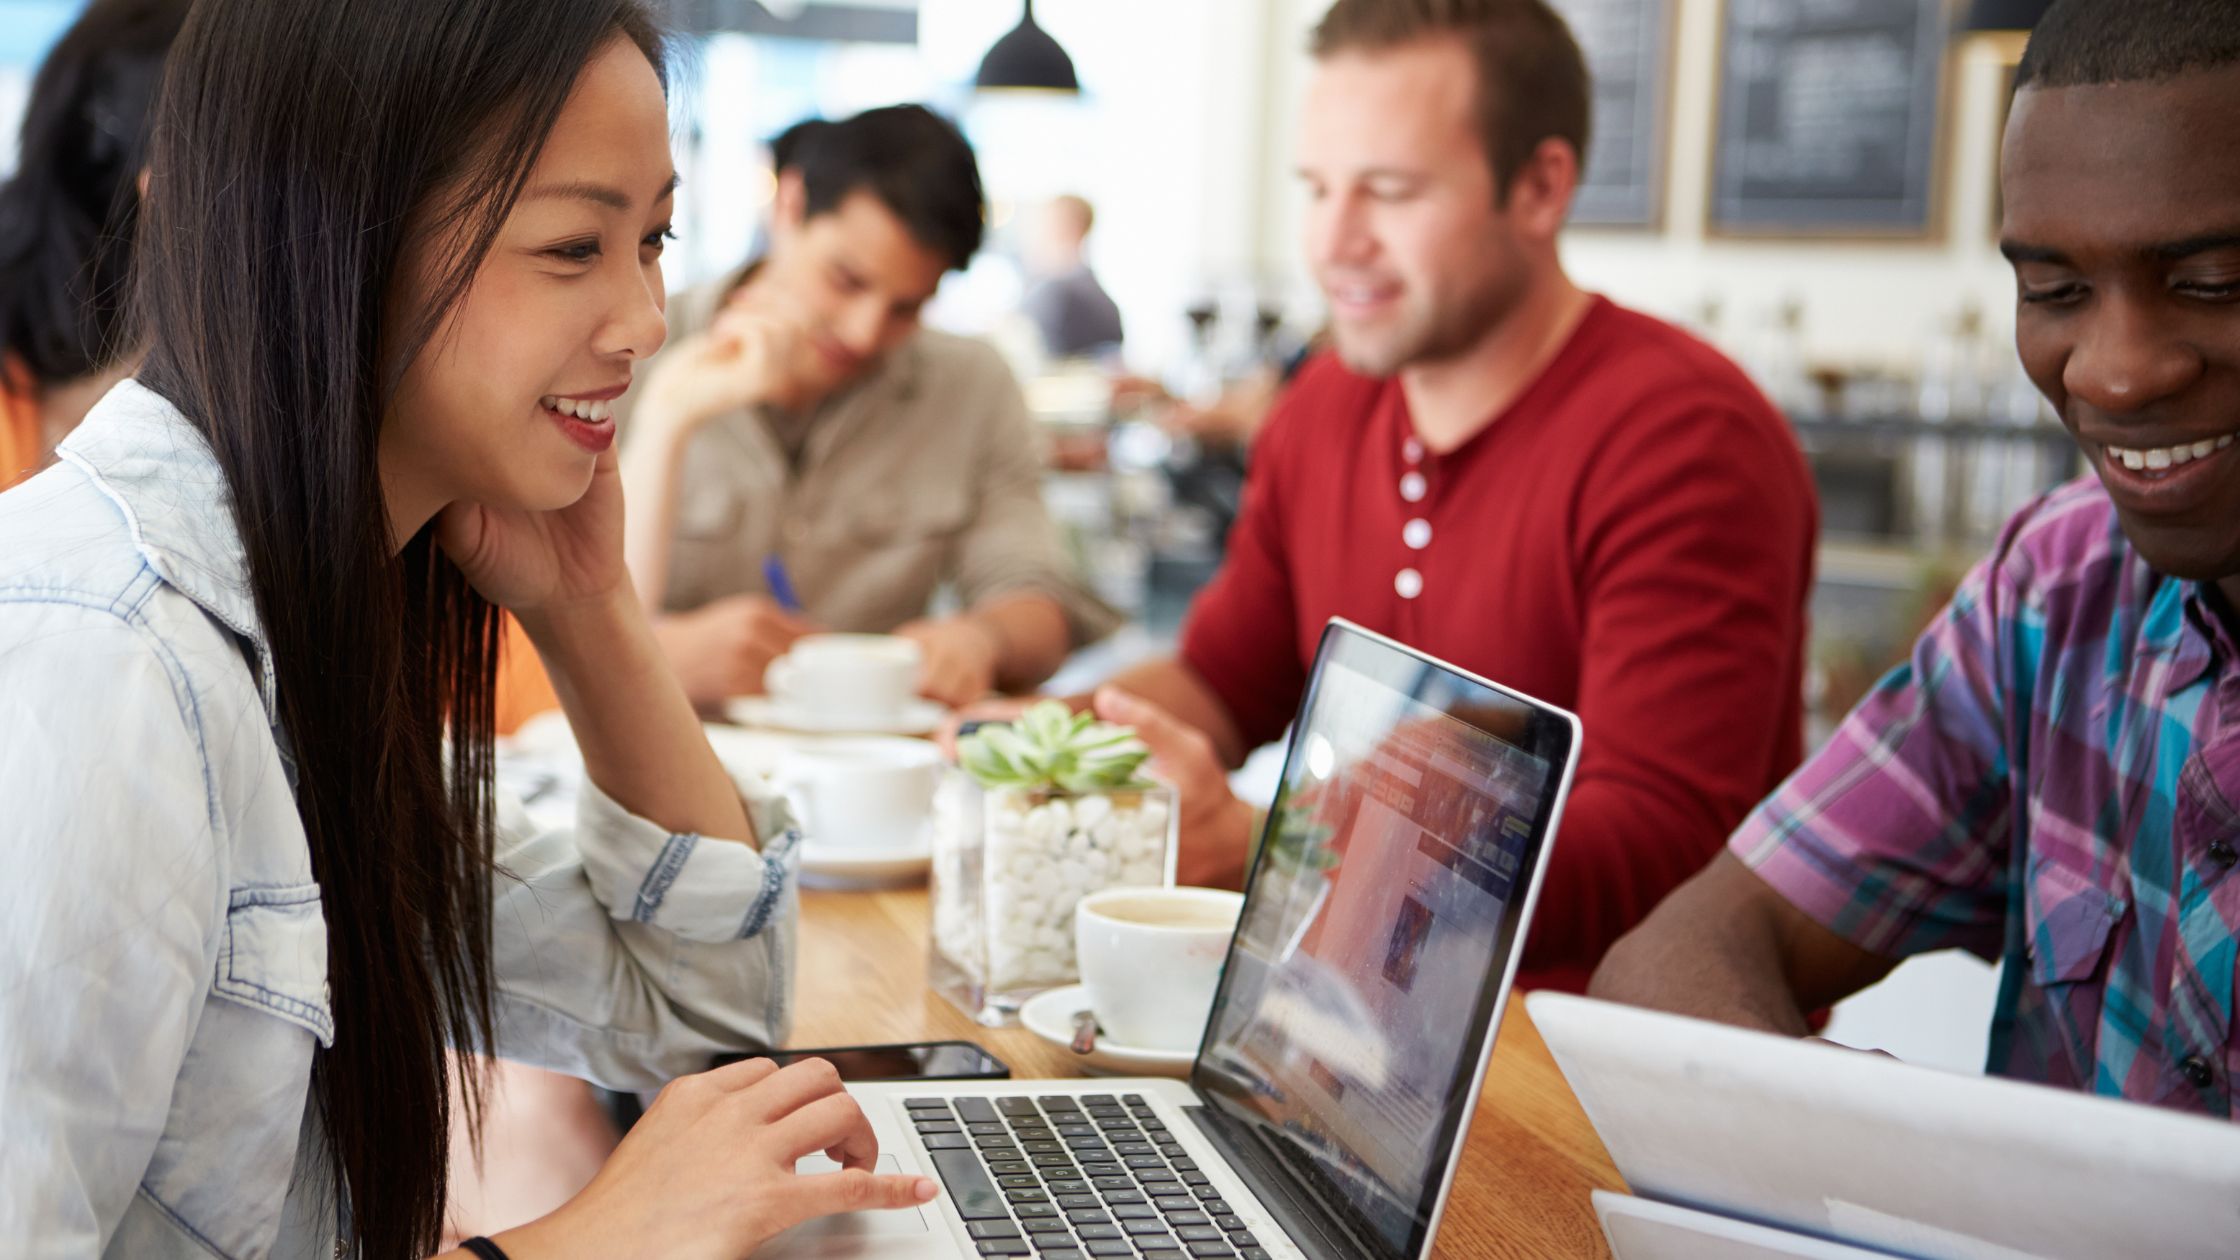
[[[2018,72],[2003,251],[2083,478],[1595,975],[1803,1034],[1947,946],[2007,964],[1989,1069],[2233,1114],[2240,4],[2061,0]]]

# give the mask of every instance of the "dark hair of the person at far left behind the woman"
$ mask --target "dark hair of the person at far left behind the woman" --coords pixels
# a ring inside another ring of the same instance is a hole
[[[38,386],[123,352],[148,112],[188,0],[94,0],[31,81],[0,184],[0,352]]]

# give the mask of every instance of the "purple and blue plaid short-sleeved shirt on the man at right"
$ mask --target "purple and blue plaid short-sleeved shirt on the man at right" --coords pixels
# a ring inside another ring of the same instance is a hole
[[[2005,957],[1991,1072],[2229,1119],[2236,803],[2236,643],[2085,478],[1729,847],[1859,948]]]

